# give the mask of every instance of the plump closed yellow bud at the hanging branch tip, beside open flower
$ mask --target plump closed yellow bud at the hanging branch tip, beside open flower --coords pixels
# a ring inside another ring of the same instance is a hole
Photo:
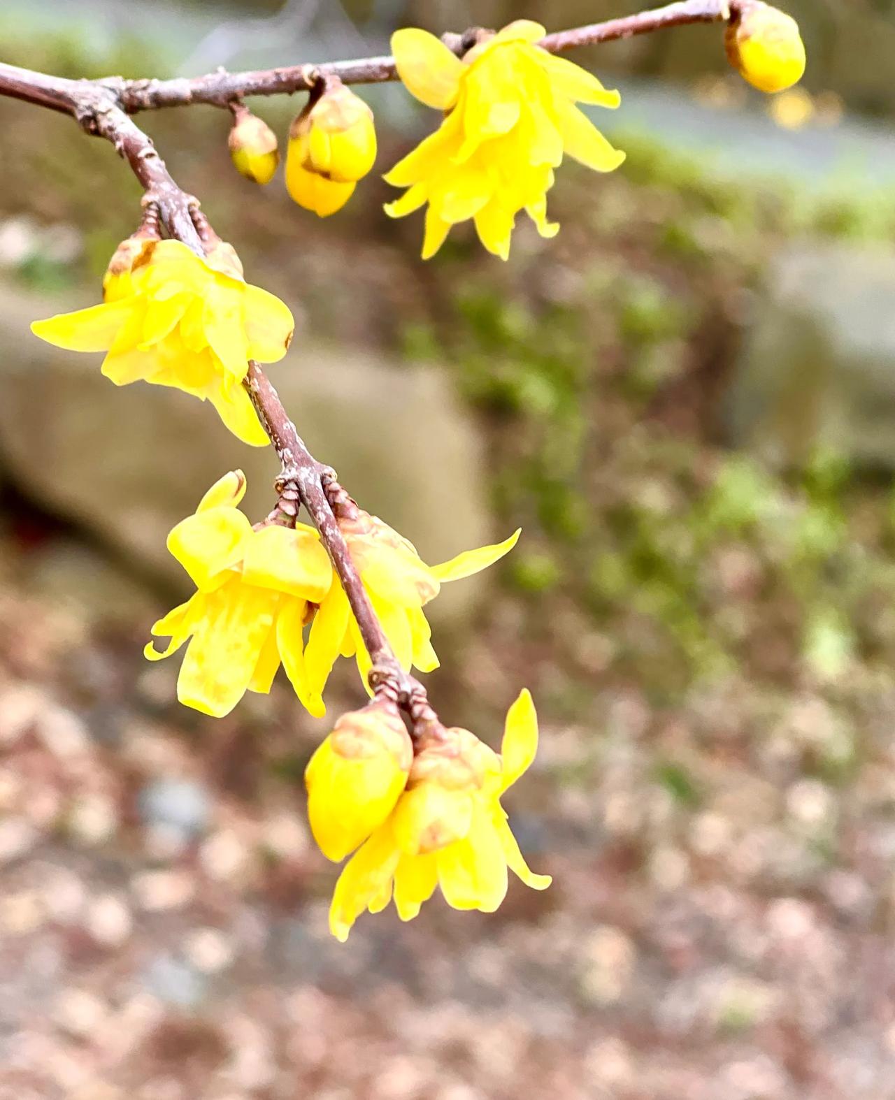
[[[393,703],[374,701],[338,719],[305,771],[310,829],[327,859],[339,862],[379,828],[412,762],[411,735]]]

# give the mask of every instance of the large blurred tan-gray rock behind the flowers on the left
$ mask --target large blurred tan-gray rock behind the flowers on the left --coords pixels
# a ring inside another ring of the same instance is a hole
[[[21,491],[186,592],[165,550],[168,530],[234,468],[248,476],[247,514],[261,519],[273,504],[275,455],[241,444],[209,405],[142,383],[118,388],[99,373],[99,355],[58,351],[29,332],[33,318],[81,304],[0,289],[0,464]],[[315,455],[426,560],[494,537],[483,443],[445,372],[299,334],[271,377]],[[461,622],[476,593],[474,580],[448,586],[436,616]]]

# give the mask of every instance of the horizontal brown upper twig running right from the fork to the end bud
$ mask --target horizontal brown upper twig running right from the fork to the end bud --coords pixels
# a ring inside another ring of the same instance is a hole
[[[754,0],[679,0],[677,3],[642,11],[604,23],[591,23],[569,31],[558,31],[541,40],[539,45],[553,54],[578,46],[598,45],[635,34],[648,34],[688,23],[717,23],[728,20],[744,4]],[[447,34],[445,42],[455,53],[462,53],[467,43],[460,34]],[[359,61],[326,62],[321,65],[288,65],[273,69],[244,73],[209,73],[206,76],[176,77],[173,80],[121,80],[117,82],[119,101],[125,111],[151,110],[159,107],[186,107],[210,103],[227,107],[234,97],[277,96],[308,91],[320,74],[338,76],[342,84],[382,84],[397,79],[393,57],[364,57]]]

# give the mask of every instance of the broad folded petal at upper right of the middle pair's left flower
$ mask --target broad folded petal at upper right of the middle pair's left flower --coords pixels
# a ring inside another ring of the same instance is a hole
[[[316,534],[272,525],[247,540],[242,579],[318,604],[332,583],[332,566]]]

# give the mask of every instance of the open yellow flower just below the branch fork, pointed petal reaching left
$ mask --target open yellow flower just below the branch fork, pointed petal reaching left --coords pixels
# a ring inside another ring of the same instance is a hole
[[[128,270],[127,254],[133,251]],[[283,302],[247,284],[229,245],[200,258],[179,241],[143,241],[117,253],[106,301],[34,321],[32,332],[68,351],[106,351],[118,386],[143,380],[210,400],[243,442],[268,442],[242,386],[248,361],[275,363],[294,322]]]

